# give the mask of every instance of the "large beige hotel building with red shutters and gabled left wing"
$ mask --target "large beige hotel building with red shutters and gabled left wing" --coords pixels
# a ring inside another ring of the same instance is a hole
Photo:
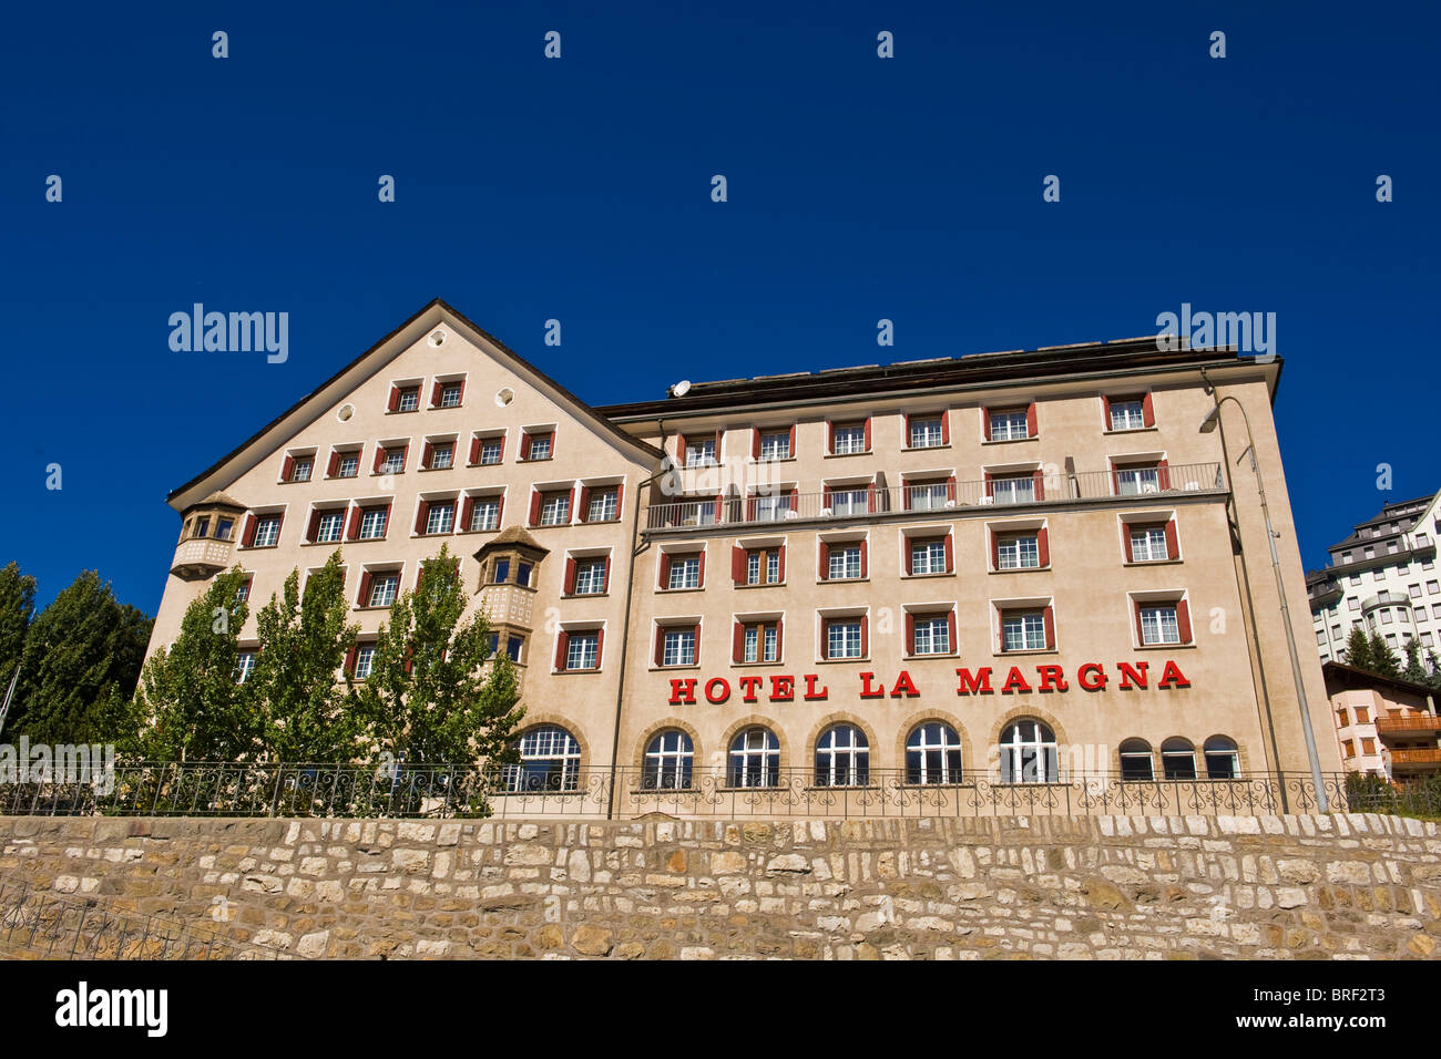
[[[435,301],[170,494],[151,650],[220,569],[259,605],[337,546],[365,644],[448,542],[523,673],[517,782],[1307,772],[1236,409],[1199,429],[1208,382],[1246,409],[1304,614],[1280,370],[1147,337],[592,409]]]

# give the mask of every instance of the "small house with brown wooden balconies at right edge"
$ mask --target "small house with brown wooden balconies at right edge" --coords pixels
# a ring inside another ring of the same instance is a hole
[[[1441,718],[1429,687],[1339,661],[1321,671],[1347,772],[1398,782],[1441,772]]]

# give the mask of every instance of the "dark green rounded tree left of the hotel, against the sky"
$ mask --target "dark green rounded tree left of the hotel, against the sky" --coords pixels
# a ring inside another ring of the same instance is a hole
[[[151,625],[134,607],[118,604],[95,571],[82,571],[30,622],[6,728],[49,743],[125,735],[133,716],[122,703],[135,690]]]

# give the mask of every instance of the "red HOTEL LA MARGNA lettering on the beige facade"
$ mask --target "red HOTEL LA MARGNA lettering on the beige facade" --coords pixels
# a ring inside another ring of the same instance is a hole
[[[1022,673],[1019,666],[1012,666],[1004,682],[1001,682],[999,687],[991,683],[994,673],[996,670],[990,666],[981,666],[976,670],[955,670],[955,676],[960,680],[960,686],[955,689],[955,693],[994,694],[999,690],[1001,694],[1014,694],[1016,692],[1071,690],[1071,682],[1066,680],[1065,670],[1061,666],[1036,666],[1035,683],[1026,679],[1026,674]],[[885,682],[876,683],[875,673],[859,673],[857,677],[860,679],[862,699],[885,699],[888,696],[892,699],[915,699],[921,694],[921,692],[916,690],[915,682],[911,680],[911,674],[905,670],[901,670],[895,683],[891,684],[889,689]],[[820,674],[807,673],[800,677],[800,680],[804,683],[797,686],[794,676],[777,673],[769,677],[738,677],[735,683],[741,690],[741,702],[759,702],[759,696],[762,693],[765,694],[767,702],[795,702],[797,692],[800,692],[800,697],[804,702],[820,702],[830,697],[827,687],[820,683]],[[1105,689],[1110,680],[1111,674],[1108,674],[1105,667],[1098,661],[1088,661],[1075,673],[1075,686],[1082,692],[1099,692]],[[767,682],[769,682],[768,689]],[[1150,663],[1115,663],[1115,687],[1120,692],[1150,689]],[[1186,674],[1180,671],[1180,666],[1167,658],[1164,667],[1161,669],[1160,679],[1156,680],[1156,689],[1169,692],[1173,687],[1190,687],[1190,682],[1186,679]],[[731,699],[731,682],[725,677],[710,677],[703,684],[700,677],[672,677],[670,705],[695,706],[697,689],[699,693],[705,696],[706,702],[716,706]]]

